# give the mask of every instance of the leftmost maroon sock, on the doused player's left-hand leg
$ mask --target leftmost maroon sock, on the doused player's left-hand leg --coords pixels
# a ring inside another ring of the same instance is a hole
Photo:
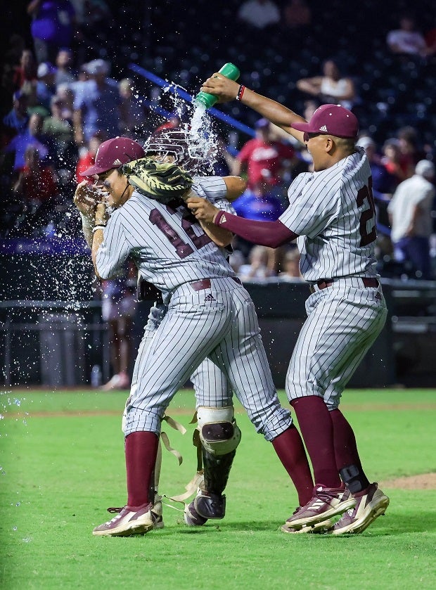
[[[132,432],[125,439],[127,506],[138,508],[153,501],[150,487],[158,454],[159,437],[154,432]]]

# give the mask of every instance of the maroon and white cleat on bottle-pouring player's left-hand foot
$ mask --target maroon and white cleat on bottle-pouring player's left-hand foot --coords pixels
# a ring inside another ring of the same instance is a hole
[[[297,508],[283,526],[287,528],[313,526],[318,522],[331,518],[331,516],[344,513],[355,504],[356,500],[345,485],[326,487],[318,484],[314,487],[312,499],[305,506]]]

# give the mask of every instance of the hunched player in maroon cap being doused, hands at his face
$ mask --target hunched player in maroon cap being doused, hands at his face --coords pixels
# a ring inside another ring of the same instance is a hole
[[[84,181],[75,192],[96,276],[110,278],[132,259],[168,306],[136,357],[124,421],[127,504],[93,533],[127,536],[162,526],[153,489],[160,423],[174,394],[206,357],[225,373],[257,432],[272,442],[302,504],[311,493],[309,463],[289,411],[278,402],[254,304],[222,252],[232,234],[197,224],[177,200],[188,193],[191,177],[143,156],[139,143],[128,138],[103,142],[94,166],[84,172],[96,177],[96,189]],[[99,191],[104,201],[98,202]],[[157,194],[169,197],[166,205],[154,200]],[[229,414],[212,416],[210,428],[209,416],[198,421],[206,448],[224,455],[236,449],[238,431]],[[197,511],[200,506],[205,518],[214,514],[214,497],[198,500]]]

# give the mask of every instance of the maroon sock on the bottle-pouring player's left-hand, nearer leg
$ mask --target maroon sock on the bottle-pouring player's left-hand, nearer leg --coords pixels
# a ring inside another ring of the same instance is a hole
[[[340,487],[333,444],[333,423],[322,397],[310,395],[291,402],[314,468],[316,484]]]

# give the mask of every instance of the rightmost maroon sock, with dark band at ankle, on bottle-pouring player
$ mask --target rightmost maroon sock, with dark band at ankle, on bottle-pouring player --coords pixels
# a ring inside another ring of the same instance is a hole
[[[352,492],[361,492],[369,485],[361,466],[356,437],[347,419],[339,409],[332,410],[333,440],[335,443],[336,467]]]

